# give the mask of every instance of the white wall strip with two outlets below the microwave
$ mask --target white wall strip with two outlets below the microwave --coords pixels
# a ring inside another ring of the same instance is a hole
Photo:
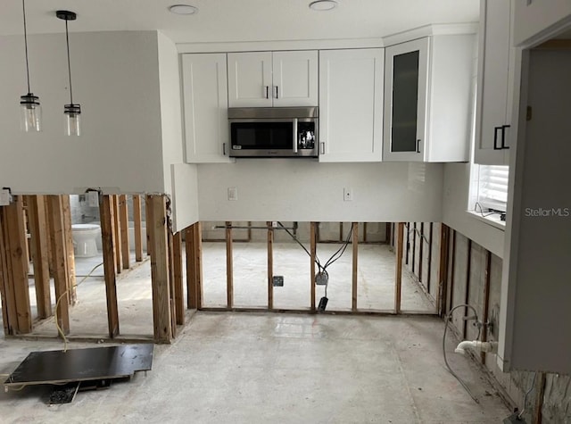
[[[238,159],[197,168],[200,220],[442,220],[440,163]],[[343,202],[343,187],[352,202]]]

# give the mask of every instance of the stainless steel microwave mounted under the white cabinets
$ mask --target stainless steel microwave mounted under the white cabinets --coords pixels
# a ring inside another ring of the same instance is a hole
[[[318,157],[318,107],[231,107],[230,157]]]

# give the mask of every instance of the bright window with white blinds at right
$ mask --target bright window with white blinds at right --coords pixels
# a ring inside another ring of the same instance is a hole
[[[484,216],[496,213],[505,217],[508,203],[508,176],[508,166],[480,165],[478,167],[475,212],[482,213]]]

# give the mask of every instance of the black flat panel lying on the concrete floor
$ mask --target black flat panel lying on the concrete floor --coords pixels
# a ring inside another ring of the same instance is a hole
[[[7,387],[130,377],[151,370],[153,345],[120,345],[32,352],[4,382]]]

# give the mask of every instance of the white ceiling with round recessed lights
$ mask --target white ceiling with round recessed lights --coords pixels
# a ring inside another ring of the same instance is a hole
[[[26,0],[29,34],[62,32],[58,9],[78,13],[70,32],[159,29],[176,43],[385,37],[430,23],[478,21],[479,0]],[[20,35],[21,0],[0,0],[0,36]],[[171,4],[199,12],[176,15]]]

